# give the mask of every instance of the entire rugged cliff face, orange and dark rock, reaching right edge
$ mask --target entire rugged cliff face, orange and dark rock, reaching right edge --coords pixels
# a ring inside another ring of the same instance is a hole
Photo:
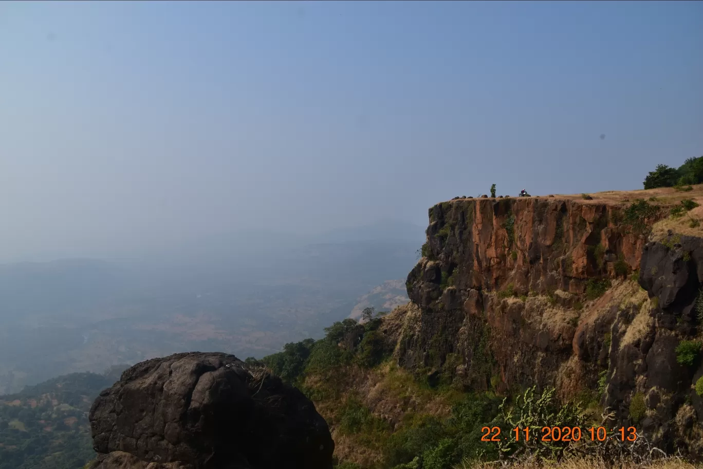
[[[676,353],[701,336],[693,309],[703,240],[649,242],[662,214],[628,200],[435,205],[406,283],[419,308],[406,318],[399,364],[472,389],[591,392],[657,444],[679,441],[703,456],[703,408],[691,389],[703,368]]]

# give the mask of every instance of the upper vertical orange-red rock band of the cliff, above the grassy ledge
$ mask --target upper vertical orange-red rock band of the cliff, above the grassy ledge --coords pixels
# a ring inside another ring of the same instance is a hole
[[[623,207],[554,198],[460,199],[430,209],[430,255],[408,276],[420,306],[427,276],[460,290],[518,295],[557,289],[583,293],[589,278],[625,276],[638,269],[645,237],[623,224]],[[429,262],[434,261],[434,262]],[[424,297],[423,297],[424,293]]]

